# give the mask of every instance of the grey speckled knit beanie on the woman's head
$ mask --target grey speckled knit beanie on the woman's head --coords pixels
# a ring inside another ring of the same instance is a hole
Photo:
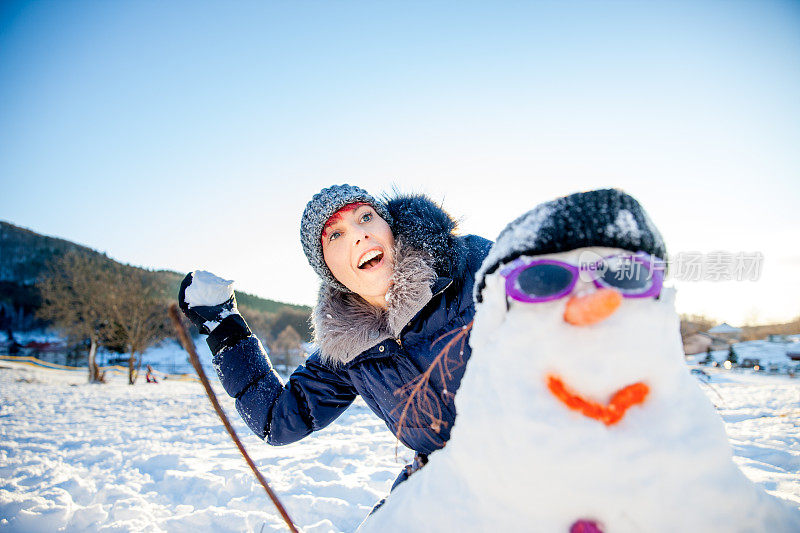
[[[333,273],[325,264],[325,258],[322,255],[322,230],[334,213],[344,206],[356,202],[371,205],[378,216],[390,226],[392,225],[392,215],[389,214],[385,203],[376,200],[364,189],[347,184],[334,185],[315,194],[306,205],[300,221],[300,242],[303,243],[303,252],[306,254],[308,264],[324,283],[333,285],[344,292],[351,291],[333,277]]]

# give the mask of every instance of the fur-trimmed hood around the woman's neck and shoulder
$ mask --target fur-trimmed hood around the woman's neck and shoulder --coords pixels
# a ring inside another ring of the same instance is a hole
[[[396,338],[433,297],[439,277],[458,277],[466,268],[464,244],[456,222],[426,196],[398,196],[387,201],[394,219],[395,270],[387,309],[354,293],[323,283],[312,323],[323,361],[344,364],[387,338]]]

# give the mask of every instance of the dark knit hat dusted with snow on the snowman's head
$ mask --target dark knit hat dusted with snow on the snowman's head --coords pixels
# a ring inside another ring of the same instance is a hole
[[[482,301],[486,276],[522,255],[567,252],[588,246],[646,252],[666,260],[658,229],[639,202],[619,189],[579,192],[539,204],[505,227],[475,275]]]

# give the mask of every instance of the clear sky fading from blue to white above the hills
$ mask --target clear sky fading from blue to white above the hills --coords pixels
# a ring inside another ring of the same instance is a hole
[[[800,314],[800,3],[4,2],[0,219],[149,268],[313,303],[316,191],[425,192],[494,238],[621,187],[677,282],[739,323]]]

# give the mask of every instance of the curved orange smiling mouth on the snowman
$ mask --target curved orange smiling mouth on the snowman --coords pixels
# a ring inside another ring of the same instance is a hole
[[[640,381],[619,389],[607,404],[601,404],[573,392],[561,378],[554,375],[547,376],[547,388],[571,410],[578,411],[583,416],[602,422],[606,426],[612,426],[622,420],[628,409],[644,403],[650,393],[650,387]]]

